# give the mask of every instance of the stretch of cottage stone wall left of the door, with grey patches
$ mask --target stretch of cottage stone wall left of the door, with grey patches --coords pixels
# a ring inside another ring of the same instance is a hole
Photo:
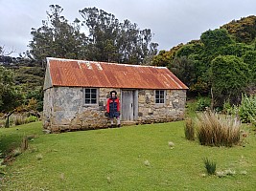
[[[65,132],[108,127],[105,104],[109,92],[98,89],[98,104],[85,105],[83,88],[55,87],[44,92],[43,127],[51,132]],[[120,94],[120,90],[116,90]]]

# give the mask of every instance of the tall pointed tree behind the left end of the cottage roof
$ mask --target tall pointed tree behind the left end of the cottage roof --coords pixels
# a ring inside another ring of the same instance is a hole
[[[80,32],[80,21],[76,19],[69,24],[61,15],[62,11],[60,6],[51,5],[47,20],[42,21],[43,26],[32,29],[33,40],[28,55],[38,63],[44,62],[47,56],[85,59],[86,37]]]

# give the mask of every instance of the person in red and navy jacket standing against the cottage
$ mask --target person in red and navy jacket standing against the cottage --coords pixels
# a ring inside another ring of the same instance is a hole
[[[117,126],[120,127],[120,101],[116,91],[110,92],[110,97],[106,101],[106,112],[110,118],[111,127],[114,126],[114,118],[117,119]]]

